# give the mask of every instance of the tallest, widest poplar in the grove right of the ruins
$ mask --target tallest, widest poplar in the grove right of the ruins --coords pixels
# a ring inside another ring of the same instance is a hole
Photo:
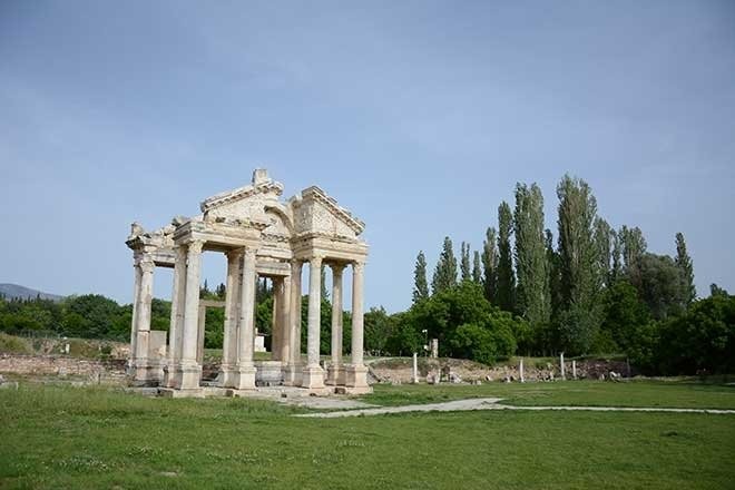
[[[562,347],[586,353],[599,327],[598,248],[595,243],[597,199],[589,185],[566,175],[557,186],[559,197],[559,265]]]

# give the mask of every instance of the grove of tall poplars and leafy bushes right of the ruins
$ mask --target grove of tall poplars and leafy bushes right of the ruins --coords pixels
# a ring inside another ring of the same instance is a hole
[[[440,340],[443,354],[477,360],[490,359],[487,352],[621,353],[650,373],[733,371],[735,300],[716,285],[713,297],[696,298],[682,233],[674,257],[654,254],[640,228],[616,231],[598,215],[585,180],[565,176],[556,195],[556,238],[545,227],[541,189],[519,183],[514,207],[499,205],[481,252],[462,242],[459,276],[452,241],[444,238],[431,291],[420,252],[411,308],[382,321],[394,324],[389,351],[410,352],[428,336]],[[454,315],[458,304],[464,311]],[[478,308],[504,314],[513,342],[503,343],[492,322],[468,313]]]

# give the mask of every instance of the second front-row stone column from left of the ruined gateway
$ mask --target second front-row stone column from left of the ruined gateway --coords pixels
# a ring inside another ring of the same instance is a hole
[[[243,285],[241,291],[239,333],[237,350],[238,390],[255,389],[255,248],[246,248],[243,258]]]

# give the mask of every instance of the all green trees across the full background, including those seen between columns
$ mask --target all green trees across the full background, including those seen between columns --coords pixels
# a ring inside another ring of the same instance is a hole
[[[498,207],[481,251],[444,238],[431,287],[419,253],[413,303],[389,315],[365,313],[365,350],[374,355],[423,352],[439,339],[441,356],[493,363],[512,355],[620,354],[646,373],[733,372],[735,296],[715,284],[697,298],[684,235],[676,256],[647,251],[638,227],[615,231],[598,216],[597,202],[581,179],[565,176],[557,186],[556,237],[545,227],[540,188],[518,184],[516,203]],[[331,303],[322,282],[322,354],[330,352]],[[200,296],[225,297],[225,286]],[[303,297],[302,333],[308,296]],[[168,330],[170,302],[154,300],[151,329]],[[256,327],[268,334],[273,295],[258,282]],[[49,332],[67,336],[129,340],[131,305],[100,295],[48,300],[0,298],[0,331]],[[220,308],[206,315],[205,346],[222,347]],[[344,313],[343,347],[350,351],[350,313]],[[305,345],[305,341],[302,342]]]

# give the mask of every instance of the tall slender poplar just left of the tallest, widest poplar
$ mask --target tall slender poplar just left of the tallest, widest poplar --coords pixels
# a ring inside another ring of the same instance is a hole
[[[516,307],[531,327],[546,325],[551,316],[549,264],[543,238],[543,196],[532,184],[516,185]]]

